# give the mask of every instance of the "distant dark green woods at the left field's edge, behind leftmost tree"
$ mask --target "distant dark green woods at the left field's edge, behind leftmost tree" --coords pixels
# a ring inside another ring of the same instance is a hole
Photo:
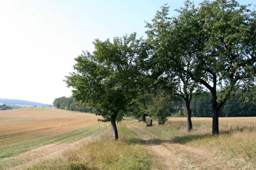
[[[59,97],[54,99],[53,105],[58,109],[64,109],[68,111],[80,111],[92,113],[92,109],[88,109],[86,105],[76,101],[73,97]]]

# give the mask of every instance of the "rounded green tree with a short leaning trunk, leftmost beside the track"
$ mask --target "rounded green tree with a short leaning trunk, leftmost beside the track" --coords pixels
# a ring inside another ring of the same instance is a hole
[[[73,87],[73,97],[93,108],[102,122],[111,122],[113,137],[118,139],[116,119],[123,113],[137,94],[141,66],[147,57],[146,45],[136,34],[116,37],[113,42],[96,39],[95,51],[83,52],[77,57],[76,72],[67,76],[68,87]]]

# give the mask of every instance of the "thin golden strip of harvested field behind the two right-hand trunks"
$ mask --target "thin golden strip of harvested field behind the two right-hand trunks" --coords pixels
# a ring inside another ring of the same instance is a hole
[[[192,122],[212,123],[211,117],[192,117]],[[186,122],[186,117],[169,117],[171,122]],[[228,125],[256,125],[256,117],[219,117],[219,123]]]

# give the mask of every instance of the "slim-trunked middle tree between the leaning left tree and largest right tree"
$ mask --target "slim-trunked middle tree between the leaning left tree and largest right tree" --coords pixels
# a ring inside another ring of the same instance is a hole
[[[187,9],[190,3],[187,1],[185,5]],[[194,6],[190,10],[195,11]],[[153,48],[152,73],[157,79],[160,79],[159,82],[163,88],[171,89],[171,95],[174,93],[184,99],[188,122],[187,130],[190,131],[192,130],[190,102],[197,83],[183,70],[193,69],[192,58],[186,51],[188,47],[192,46],[192,43],[183,42],[182,36],[179,37],[180,40],[173,37],[176,31],[174,26],[180,23],[175,18],[168,17],[168,12],[169,7],[162,6],[161,11],[157,11],[152,23],[147,23],[148,43]],[[186,21],[191,17],[193,17],[192,12],[184,13],[182,16]],[[183,34],[184,37],[191,37],[190,30],[183,30]],[[186,43],[187,47],[177,49],[176,43],[182,43],[181,45]],[[176,90],[173,92],[174,86],[176,86]]]

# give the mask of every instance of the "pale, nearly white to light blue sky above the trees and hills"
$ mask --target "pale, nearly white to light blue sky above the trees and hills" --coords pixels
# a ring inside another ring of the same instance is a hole
[[[96,38],[133,32],[146,38],[145,21],[165,3],[170,15],[183,6],[183,0],[0,0],[0,98],[52,104],[71,96],[63,79],[74,58],[92,52]]]

